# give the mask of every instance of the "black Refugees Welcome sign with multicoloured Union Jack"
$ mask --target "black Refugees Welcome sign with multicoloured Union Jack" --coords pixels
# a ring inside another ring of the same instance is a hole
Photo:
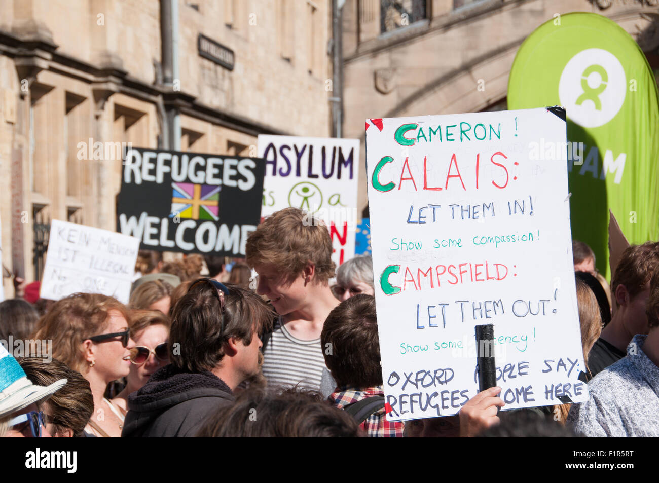
[[[148,250],[244,256],[260,221],[263,176],[262,159],[131,149],[117,231]]]

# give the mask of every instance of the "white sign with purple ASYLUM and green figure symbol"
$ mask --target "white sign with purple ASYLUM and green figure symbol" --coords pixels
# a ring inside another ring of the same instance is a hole
[[[332,260],[355,256],[359,140],[258,136],[266,160],[262,215],[295,206],[328,225]]]

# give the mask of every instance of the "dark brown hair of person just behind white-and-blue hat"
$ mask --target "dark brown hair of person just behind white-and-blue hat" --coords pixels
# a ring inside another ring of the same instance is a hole
[[[50,433],[52,436],[81,438],[94,412],[94,398],[89,382],[80,372],[57,359],[45,362],[42,358],[22,357],[18,358],[18,364],[36,385],[51,385],[61,379],[67,380],[67,384],[44,403],[48,422],[53,425]]]

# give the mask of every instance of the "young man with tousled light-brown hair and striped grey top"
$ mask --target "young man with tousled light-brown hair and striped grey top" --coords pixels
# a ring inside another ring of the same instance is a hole
[[[331,350],[321,347],[320,333],[339,303],[329,289],[335,264],[327,227],[298,208],[280,210],[250,234],[246,260],[258,273],[257,292],[279,314],[264,351],[268,384],[319,390]]]

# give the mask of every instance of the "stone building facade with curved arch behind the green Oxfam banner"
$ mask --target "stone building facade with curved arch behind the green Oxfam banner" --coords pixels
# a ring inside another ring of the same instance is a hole
[[[659,72],[659,0],[346,0],[343,135],[364,119],[506,109],[522,42],[560,14],[608,16]],[[365,163],[359,206],[366,206]]]

